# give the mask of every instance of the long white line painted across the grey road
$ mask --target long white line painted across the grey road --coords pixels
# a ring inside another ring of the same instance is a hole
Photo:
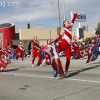
[[[50,76],[39,76],[39,75],[28,75],[28,74],[16,74],[16,73],[5,73],[3,74],[10,74],[10,75],[15,75],[15,76],[31,76],[31,77],[38,77],[38,78],[50,78],[50,79],[60,79],[60,77],[50,77]],[[94,80],[82,80],[82,79],[72,79],[72,78],[64,78],[66,80],[70,81],[80,81],[80,82],[90,82],[90,83],[100,83],[100,81],[94,81]]]

